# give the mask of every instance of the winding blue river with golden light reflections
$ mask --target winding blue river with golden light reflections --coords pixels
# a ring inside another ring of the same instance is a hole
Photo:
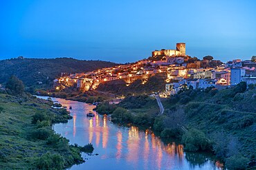
[[[37,96],[46,99],[45,96]],[[150,131],[138,127],[119,127],[108,116],[98,114],[93,118],[86,113],[95,106],[62,98],[52,98],[69,108],[73,119],[53,126],[57,134],[71,144],[92,143],[93,155],[83,153],[86,162],[71,169],[221,169],[219,162],[201,153],[185,153],[175,142],[164,144]],[[98,153],[98,154],[95,154]]]

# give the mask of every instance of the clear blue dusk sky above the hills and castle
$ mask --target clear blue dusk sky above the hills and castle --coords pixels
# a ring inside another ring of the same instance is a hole
[[[201,59],[256,55],[255,0],[0,1],[0,59],[133,62],[186,43]]]

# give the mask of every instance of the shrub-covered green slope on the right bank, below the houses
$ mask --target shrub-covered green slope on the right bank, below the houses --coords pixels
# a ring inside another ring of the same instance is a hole
[[[228,169],[255,169],[256,86],[184,88],[163,99],[165,113],[149,96],[127,96],[118,105],[105,102],[96,111],[111,114],[115,123],[132,123],[152,129],[163,139],[178,138],[185,151],[209,151]]]

